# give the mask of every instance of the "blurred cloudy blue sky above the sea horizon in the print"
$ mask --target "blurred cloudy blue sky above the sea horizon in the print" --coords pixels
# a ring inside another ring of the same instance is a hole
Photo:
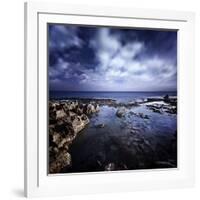
[[[177,33],[49,25],[49,88],[176,91]]]

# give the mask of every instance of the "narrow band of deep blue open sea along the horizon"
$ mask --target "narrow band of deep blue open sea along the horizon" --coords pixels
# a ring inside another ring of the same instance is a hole
[[[50,91],[50,99],[67,99],[67,98],[91,98],[91,99],[113,99],[120,102],[128,102],[138,98],[147,98],[155,96],[176,96],[177,92],[67,92],[67,91]]]

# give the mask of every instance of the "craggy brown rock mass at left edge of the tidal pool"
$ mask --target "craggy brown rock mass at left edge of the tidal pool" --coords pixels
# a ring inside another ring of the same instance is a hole
[[[89,116],[99,112],[98,104],[78,101],[49,103],[49,172],[59,173],[72,165],[68,152],[77,134],[90,122]]]

